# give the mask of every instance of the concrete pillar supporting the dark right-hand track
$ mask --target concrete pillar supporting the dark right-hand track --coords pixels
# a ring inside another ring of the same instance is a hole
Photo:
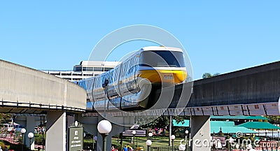
[[[192,150],[210,151],[210,116],[191,116],[190,118],[190,139]]]

